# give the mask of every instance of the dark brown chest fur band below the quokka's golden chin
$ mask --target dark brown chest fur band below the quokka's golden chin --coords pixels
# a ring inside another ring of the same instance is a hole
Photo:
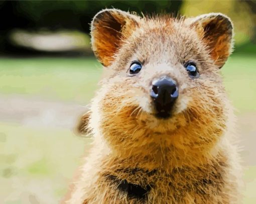
[[[169,173],[161,169],[117,169],[102,174],[116,193],[128,200],[147,202],[151,197],[172,197],[182,201],[187,194],[201,197],[221,191],[224,185],[224,164],[205,165],[197,168],[174,168]]]

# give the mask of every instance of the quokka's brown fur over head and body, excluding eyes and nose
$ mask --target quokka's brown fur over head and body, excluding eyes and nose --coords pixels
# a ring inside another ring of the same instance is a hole
[[[234,117],[219,71],[232,49],[231,21],[221,14],[139,18],[112,9],[94,17],[91,34],[106,77],[91,103],[94,147],[65,203],[238,202]],[[129,77],[133,60],[143,69]],[[198,79],[184,68],[189,60]],[[167,120],[154,116],[149,94],[162,75],[179,85]],[[121,184],[148,192],[131,197]]]

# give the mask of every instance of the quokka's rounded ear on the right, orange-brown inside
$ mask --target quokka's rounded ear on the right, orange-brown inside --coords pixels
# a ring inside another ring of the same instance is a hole
[[[233,48],[233,26],[231,20],[223,14],[211,13],[192,20],[195,27],[209,48],[215,64],[221,68]]]

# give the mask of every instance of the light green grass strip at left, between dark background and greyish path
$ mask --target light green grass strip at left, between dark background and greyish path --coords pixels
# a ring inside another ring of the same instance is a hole
[[[0,59],[0,93],[87,103],[101,68],[93,58]]]

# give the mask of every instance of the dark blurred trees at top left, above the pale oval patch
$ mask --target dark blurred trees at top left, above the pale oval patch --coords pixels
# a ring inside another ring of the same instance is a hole
[[[1,1],[0,50],[19,51],[9,36],[13,29],[27,31],[71,29],[89,33],[89,23],[102,9],[116,8],[137,12],[174,13],[182,1]],[[6,21],[3,21],[6,20]],[[21,52],[21,51],[19,51]]]

